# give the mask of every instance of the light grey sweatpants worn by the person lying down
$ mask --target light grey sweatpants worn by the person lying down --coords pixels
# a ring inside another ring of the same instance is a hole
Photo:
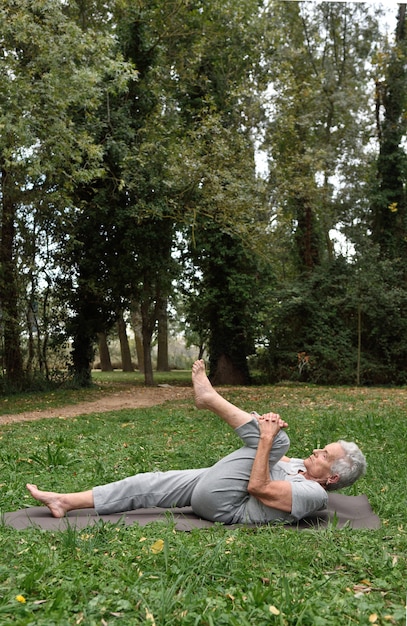
[[[192,506],[194,512],[211,521],[233,524],[244,522],[245,505],[253,460],[259,441],[256,419],[239,426],[236,434],[244,447],[232,452],[209,468],[170,470],[136,474],[117,482],[95,487],[95,508],[100,514],[149,507]],[[270,452],[270,466],[287,452],[290,440],[280,431]]]

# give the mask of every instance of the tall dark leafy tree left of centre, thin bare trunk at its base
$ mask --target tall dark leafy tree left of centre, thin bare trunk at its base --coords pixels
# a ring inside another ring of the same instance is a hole
[[[177,2],[115,5],[118,46],[125,61],[136,68],[137,80],[128,81],[125,92],[109,92],[107,107],[99,108],[98,123],[92,130],[89,128],[104,147],[106,175],[97,183],[89,180],[78,190],[78,204],[83,212],[73,236],[76,247],[83,249],[82,257],[77,253],[73,257],[77,274],[86,271],[86,263],[99,263],[104,268],[101,280],[105,286],[105,303],[110,300],[110,307],[116,303],[116,308],[129,307],[134,302],[140,304],[147,384],[153,382],[151,344],[157,301],[169,293],[170,287],[164,287],[167,279],[163,276],[173,267],[169,262],[172,238],[167,236],[167,226],[172,233],[172,222],[165,186],[173,122],[171,106],[167,105],[171,94],[165,90],[165,80],[170,82],[165,52],[166,38],[171,41],[175,34],[171,21],[167,24],[163,16],[171,17],[174,7],[178,7]],[[84,246],[81,239],[82,223],[86,221],[92,224],[91,231],[86,230],[92,237],[91,246]],[[90,254],[93,259],[86,259]],[[98,275],[101,276],[101,269]],[[94,298],[95,285],[88,279],[84,284]],[[85,305],[82,298],[77,301],[79,307],[81,302]],[[80,317],[78,310],[77,318]],[[96,321],[93,317],[94,324]],[[104,323],[102,319],[100,322]],[[86,344],[83,337],[78,342],[85,359],[94,342],[95,329],[91,331],[89,328]]]

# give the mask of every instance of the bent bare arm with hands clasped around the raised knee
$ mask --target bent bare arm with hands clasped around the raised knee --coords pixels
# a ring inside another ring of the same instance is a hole
[[[271,480],[270,478],[269,454],[281,426],[277,417],[273,418],[269,415],[273,414],[258,418],[260,440],[247,490],[250,495],[260,500],[266,506],[291,513],[291,484],[284,480]]]

